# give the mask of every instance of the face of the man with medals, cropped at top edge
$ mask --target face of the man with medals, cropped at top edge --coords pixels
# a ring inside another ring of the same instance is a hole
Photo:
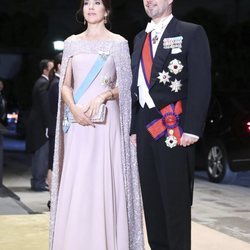
[[[145,11],[153,20],[170,15],[172,3],[173,0],[143,0]]]

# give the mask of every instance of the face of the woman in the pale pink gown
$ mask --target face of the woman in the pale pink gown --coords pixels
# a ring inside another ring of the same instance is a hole
[[[83,15],[90,24],[104,22],[107,11],[101,0],[84,0]]]

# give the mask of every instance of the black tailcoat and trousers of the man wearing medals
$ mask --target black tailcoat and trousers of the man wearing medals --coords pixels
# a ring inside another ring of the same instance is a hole
[[[164,39],[182,37],[179,53],[163,46]],[[202,136],[211,89],[210,50],[204,29],[173,18],[159,42],[152,66],[150,90],[155,108],[141,108],[137,87],[138,69],[146,38],[140,32],[132,55],[133,83],[131,134],[137,135],[137,154],[145,218],[151,249],[189,250],[193,191],[194,145],[168,148],[165,136],[155,141],[146,125],[162,116],[159,110],[181,100],[183,114],[180,127],[185,133]],[[173,60],[182,66],[174,74],[169,69]],[[170,82],[163,84],[159,73],[169,73]],[[171,82],[180,81],[173,91]]]

